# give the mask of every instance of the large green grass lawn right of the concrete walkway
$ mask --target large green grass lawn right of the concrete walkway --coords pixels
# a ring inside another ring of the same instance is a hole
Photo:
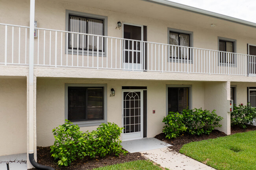
[[[256,131],[188,143],[180,153],[217,170],[256,170]]]

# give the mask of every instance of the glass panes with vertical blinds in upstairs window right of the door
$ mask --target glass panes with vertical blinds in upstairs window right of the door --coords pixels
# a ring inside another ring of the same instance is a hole
[[[190,46],[190,35],[170,31],[169,38],[169,43],[171,45],[176,45],[173,47],[170,46],[170,58],[190,59],[190,49],[186,48]]]

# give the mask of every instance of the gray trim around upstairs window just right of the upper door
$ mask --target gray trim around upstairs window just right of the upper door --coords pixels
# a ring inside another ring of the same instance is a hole
[[[182,30],[182,29],[175,29],[175,28],[169,28],[167,29],[167,44],[170,44],[170,37],[169,37],[169,33],[170,31],[173,31],[173,32],[177,32],[177,33],[184,33],[184,34],[188,34],[189,35],[189,44],[190,46],[189,47],[193,47],[193,31],[186,31],[186,30]],[[169,53],[169,48],[168,48],[168,53]],[[183,60],[183,59],[179,59],[176,61],[175,60],[171,60],[169,59],[169,62],[179,62],[179,63],[187,63],[187,60]],[[190,54],[190,60],[189,60],[189,64],[193,64],[193,53]]]

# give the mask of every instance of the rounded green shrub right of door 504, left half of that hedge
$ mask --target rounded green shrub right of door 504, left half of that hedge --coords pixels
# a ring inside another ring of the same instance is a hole
[[[169,114],[163,118],[165,126],[163,126],[163,133],[165,137],[176,138],[182,132],[186,132],[186,126],[183,121],[183,115],[180,113],[169,112]]]

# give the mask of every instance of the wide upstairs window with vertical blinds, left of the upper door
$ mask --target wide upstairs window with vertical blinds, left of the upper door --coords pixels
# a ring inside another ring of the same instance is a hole
[[[93,35],[104,35],[104,20],[69,15],[69,31]],[[98,38],[99,42],[97,46],[97,37],[93,35],[69,33],[69,49],[84,49],[89,51],[104,50],[102,46],[102,37]]]

